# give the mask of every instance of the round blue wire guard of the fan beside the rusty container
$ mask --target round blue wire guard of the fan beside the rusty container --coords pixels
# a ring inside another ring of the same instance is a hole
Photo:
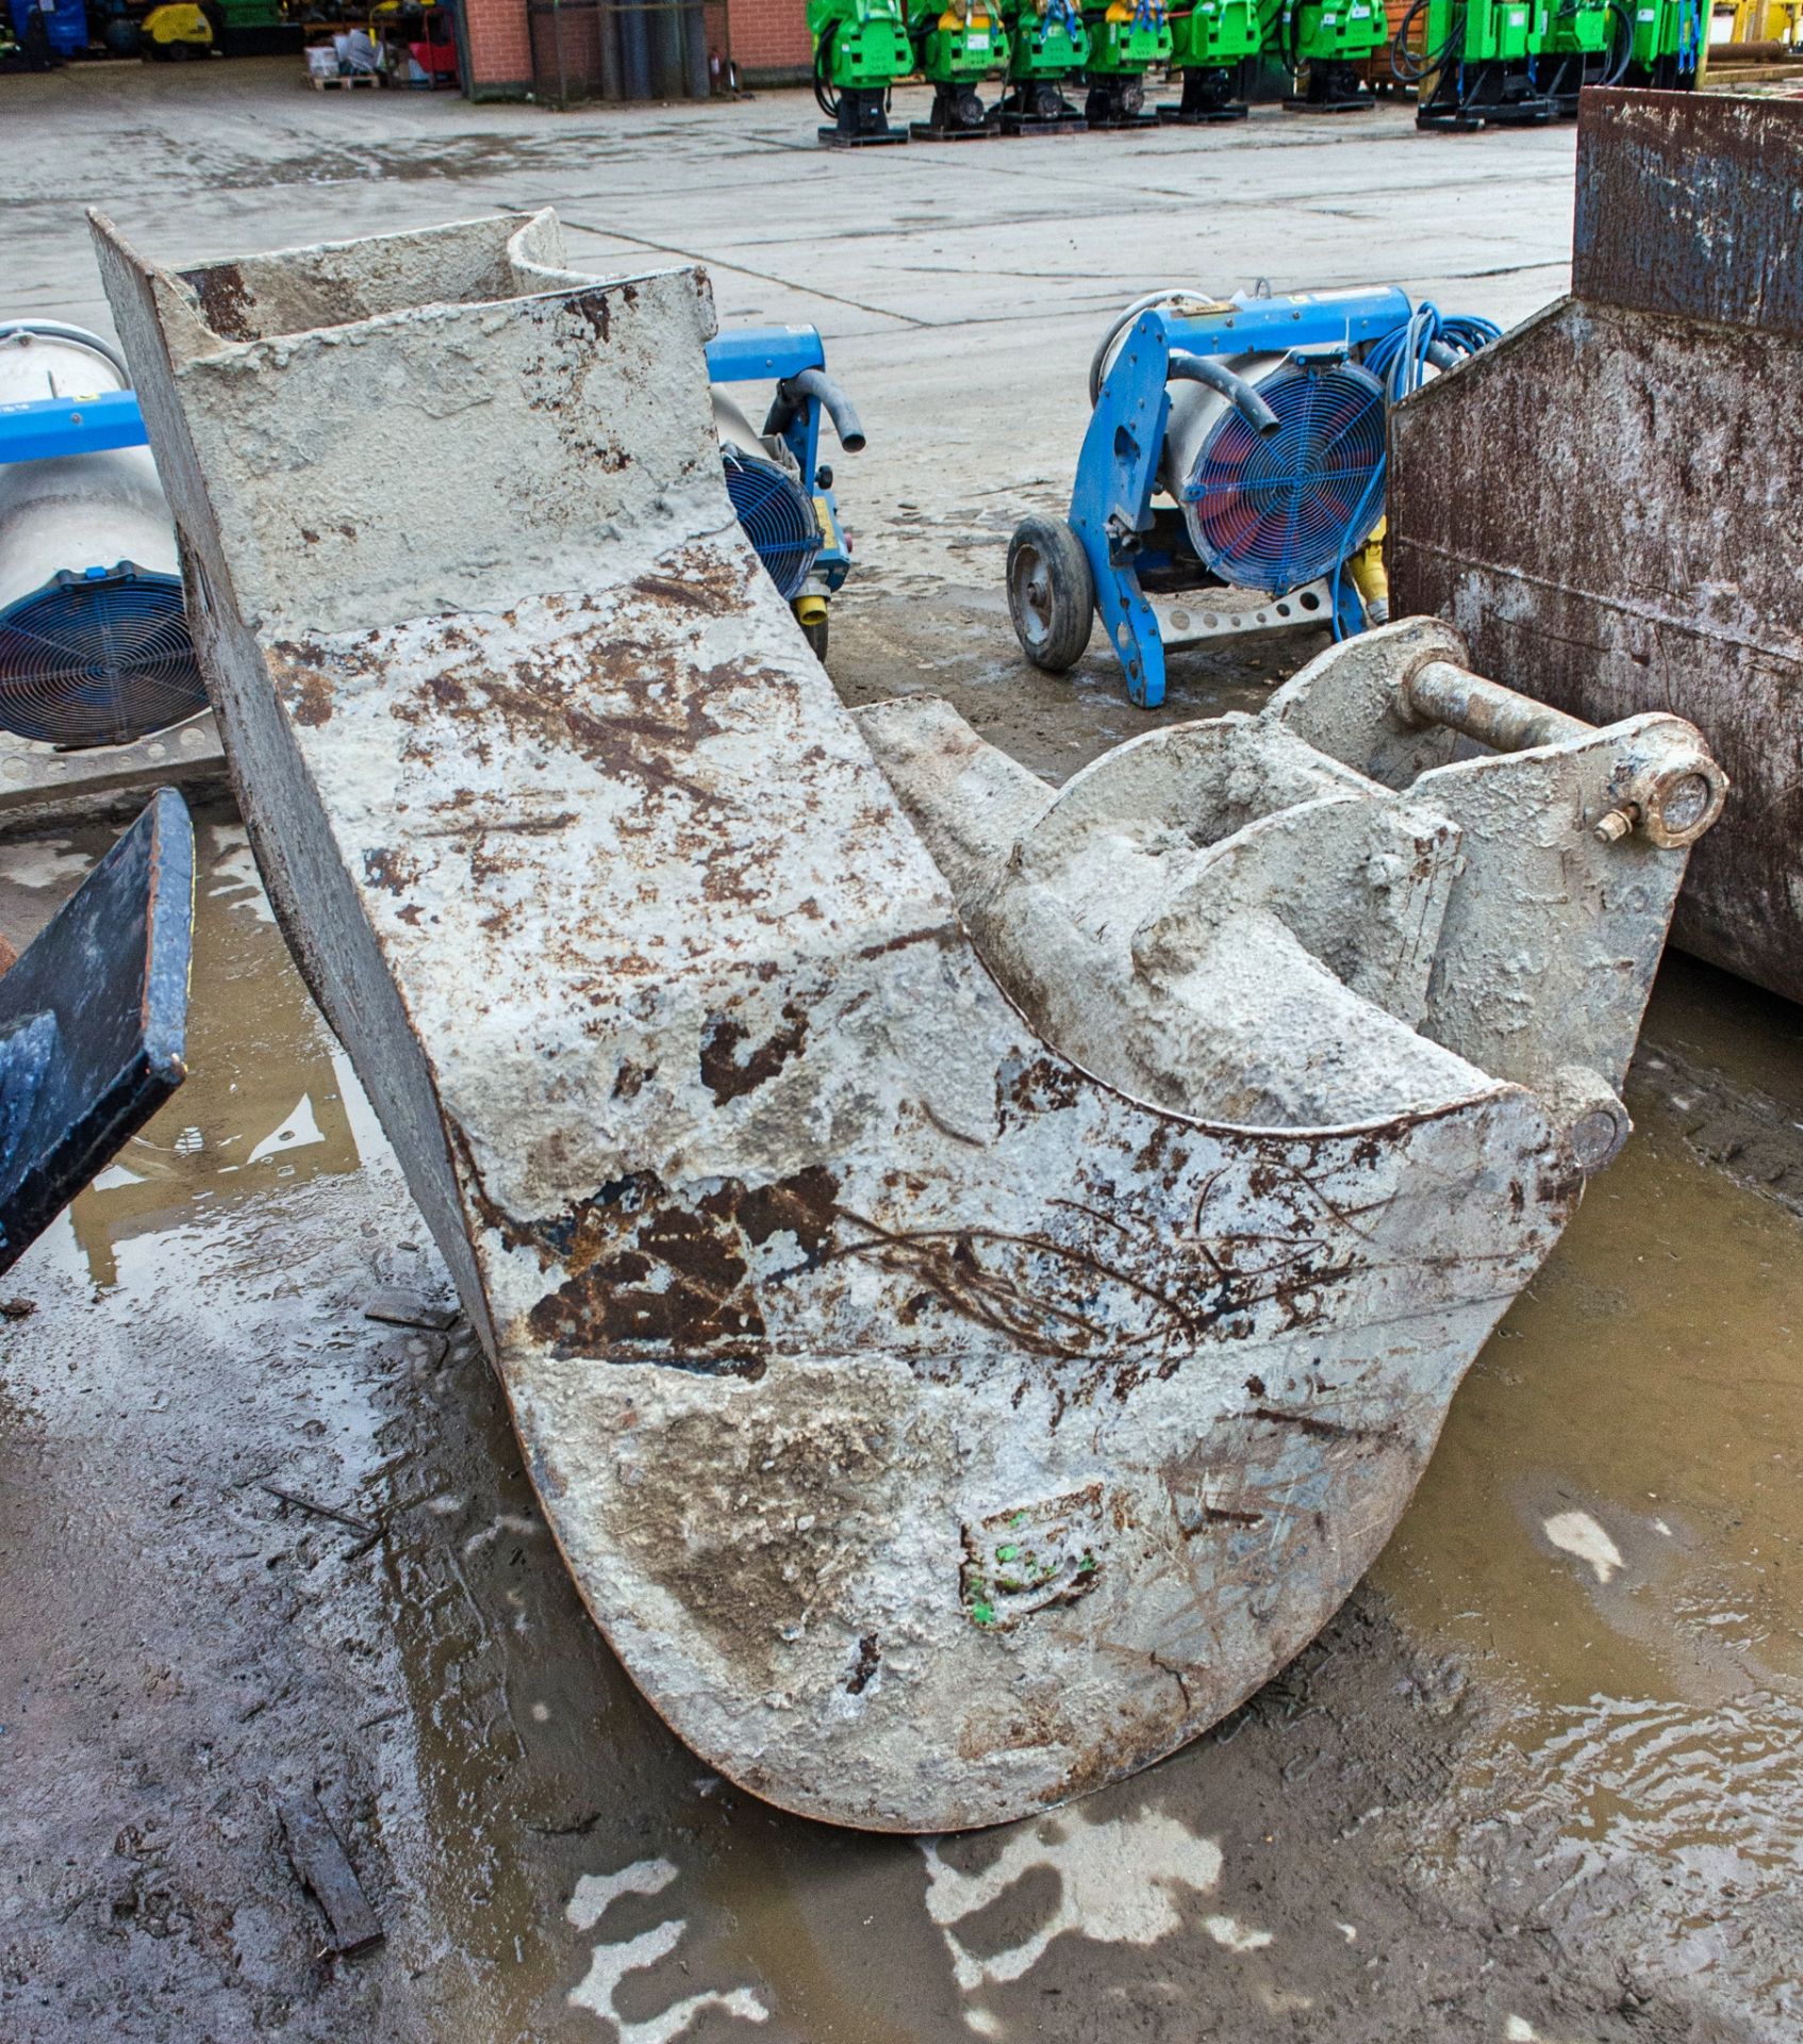
[[[1196,456],[1184,517],[1222,580],[1282,595],[1331,574],[1382,517],[1384,388],[1353,362],[1292,362],[1257,392],[1278,431],[1224,411]]]

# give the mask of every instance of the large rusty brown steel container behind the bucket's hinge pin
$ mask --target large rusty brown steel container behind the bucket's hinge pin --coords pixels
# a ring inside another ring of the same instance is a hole
[[[1572,294],[1398,407],[1396,613],[1733,781],[1674,938],[1803,1000],[1803,104],[1586,92]]]

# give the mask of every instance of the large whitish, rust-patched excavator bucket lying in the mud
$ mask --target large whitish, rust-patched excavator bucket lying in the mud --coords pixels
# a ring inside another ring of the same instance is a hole
[[[1231,1711],[1625,1134],[1697,734],[1400,623],[1053,791],[840,705],[699,272],[96,231],[282,926],[656,1709],[904,1831]]]

